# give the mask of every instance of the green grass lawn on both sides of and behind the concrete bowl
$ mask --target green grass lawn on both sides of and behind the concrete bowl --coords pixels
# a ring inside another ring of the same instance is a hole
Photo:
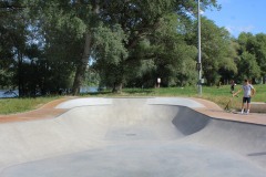
[[[252,102],[266,102],[266,85],[254,85],[256,94]],[[235,87],[235,91],[239,90],[241,85]],[[123,88],[121,94],[113,94],[110,91],[100,93],[84,94],[82,96],[182,96],[182,97],[201,97],[212,101],[218,104],[221,107],[225,107],[228,101],[232,98],[229,85],[216,86],[203,86],[202,96],[197,94],[196,86],[188,87],[160,87],[160,88]],[[242,95],[233,98],[232,108],[239,108],[242,104]],[[0,98],[0,114],[11,114],[25,112],[40,107],[41,105],[60,98],[59,96],[37,97],[37,98]]]

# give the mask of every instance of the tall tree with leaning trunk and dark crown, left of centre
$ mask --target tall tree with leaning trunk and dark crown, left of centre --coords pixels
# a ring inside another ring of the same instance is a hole
[[[61,1],[28,0],[33,27],[38,27],[42,41],[47,64],[45,81],[51,82],[51,72],[58,81],[58,88],[69,84],[64,80],[74,81],[73,94],[79,93],[91,52],[91,28],[94,22],[92,7],[96,1]],[[40,8],[41,7],[41,8]],[[95,6],[94,6],[95,7]],[[54,70],[53,70],[54,69]],[[60,71],[60,72],[59,72]],[[74,72],[74,80],[72,80]],[[61,84],[60,84],[61,83]],[[48,85],[45,84],[45,85]],[[49,84],[49,86],[51,86]]]

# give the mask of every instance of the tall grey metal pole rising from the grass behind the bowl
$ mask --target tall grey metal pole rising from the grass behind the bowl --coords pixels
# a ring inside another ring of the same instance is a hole
[[[198,96],[202,96],[202,39],[201,39],[201,2],[197,0],[197,39],[198,39]]]

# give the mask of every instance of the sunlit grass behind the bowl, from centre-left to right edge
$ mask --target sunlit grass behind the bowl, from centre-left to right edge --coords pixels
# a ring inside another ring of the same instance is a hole
[[[252,102],[266,102],[266,85],[254,85],[256,90],[255,96]],[[242,88],[242,85],[237,85],[235,91]],[[232,98],[231,86],[223,85],[217,86],[203,86],[202,96],[198,95],[197,86],[187,87],[160,87],[160,88],[124,88],[121,94],[111,94],[111,92],[105,91],[95,94],[98,96],[182,96],[182,97],[200,97],[204,100],[212,101],[225,107],[225,105]],[[231,108],[238,110],[242,104],[243,92],[238,94],[238,97],[232,98]]]

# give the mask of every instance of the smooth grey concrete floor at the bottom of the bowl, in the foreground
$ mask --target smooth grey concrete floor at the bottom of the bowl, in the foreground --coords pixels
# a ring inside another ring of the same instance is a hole
[[[265,177],[245,158],[197,144],[151,143],[31,162],[8,168],[3,177]]]

